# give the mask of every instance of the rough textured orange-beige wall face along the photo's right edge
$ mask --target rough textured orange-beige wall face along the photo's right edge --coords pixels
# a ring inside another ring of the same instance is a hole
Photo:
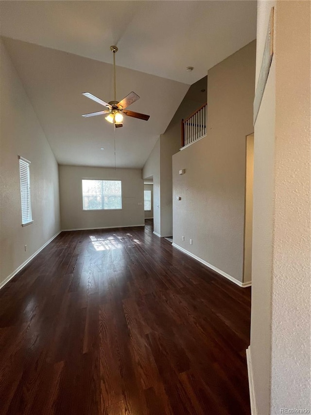
[[[311,410],[310,36],[310,1],[278,1],[271,414]]]

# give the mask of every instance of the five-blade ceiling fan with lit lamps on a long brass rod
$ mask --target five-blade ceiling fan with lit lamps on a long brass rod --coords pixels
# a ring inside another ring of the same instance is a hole
[[[89,92],[83,92],[82,95],[86,96],[89,99],[92,99],[93,101],[98,102],[99,104],[102,104],[104,107],[108,108],[104,111],[98,111],[98,112],[91,112],[90,114],[83,114],[83,117],[94,117],[94,115],[102,115],[102,114],[108,114],[105,119],[111,123],[114,124],[116,127],[122,127],[122,121],[123,121],[123,114],[127,115],[128,117],[134,117],[139,118],[140,120],[148,121],[150,115],[141,114],[140,112],[134,112],[130,111],[128,109],[125,109],[129,107],[133,102],[137,101],[139,99],[139,96],[135,92],[130,92],[125,98],[123,98],[120,102],[116,100],[116,53],[118,51],[117,46],[110,46],[110,50],[113,53],[113,87],[114,87],[114,101],[109,101],[108,103],[103,101],[100,98],[97,98],[97,96],[92,95]]]

